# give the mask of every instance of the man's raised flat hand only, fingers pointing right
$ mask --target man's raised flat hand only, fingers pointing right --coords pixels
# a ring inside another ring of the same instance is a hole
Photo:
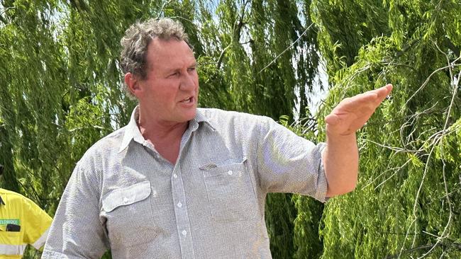
[[[325,117],[326,132],[330,136],[355,134],[372,116],[374,110],[391,93],[392,85],[388,84],[376,90],[360,93],[345,98],[333,111]]]

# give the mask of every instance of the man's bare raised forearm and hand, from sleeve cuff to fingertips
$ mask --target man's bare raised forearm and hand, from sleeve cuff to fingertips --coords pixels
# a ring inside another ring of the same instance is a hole
[[[365,125],[391,91],[392,85],[388,84],[345,98],[325,117],[327,146],[322,158],[328,182],[327,197],[354,190],[359,166],[355,132]]]

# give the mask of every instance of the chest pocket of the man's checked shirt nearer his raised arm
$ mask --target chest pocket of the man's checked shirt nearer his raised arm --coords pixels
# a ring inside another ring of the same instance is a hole
[[[246,221],[257,216],[257,202],[246,166],[241,163],[207,163],[204,174],[211,217],[216,221]]]

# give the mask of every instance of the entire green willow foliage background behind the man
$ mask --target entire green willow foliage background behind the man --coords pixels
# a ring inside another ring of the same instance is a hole
[[[316,142],[340,100],[394,84],[357,134],[355,192],[267,197],[274,258],[461,258],[457,0],[0,0],[2,188],[54,214],[76,161],[135,105],[121,91],[123,32],[165,16],[194,45],[202,107],[267,115]],[[313,115],[321,63],[329,91]]]

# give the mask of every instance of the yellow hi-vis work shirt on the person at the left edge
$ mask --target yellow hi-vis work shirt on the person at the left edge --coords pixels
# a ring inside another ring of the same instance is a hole
[[[28,244],[45,245],[52,218],[33,201],[0,188],[0,258],[22,258]]]

